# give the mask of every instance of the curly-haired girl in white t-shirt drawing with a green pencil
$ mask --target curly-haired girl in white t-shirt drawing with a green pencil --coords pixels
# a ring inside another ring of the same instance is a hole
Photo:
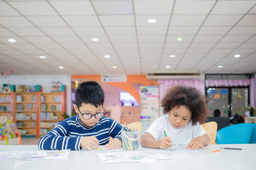
[[[199,123],[205,123],[207,105],[203,94],[193,87],[174,86],[161,101],[164,114],[142,136],[142,147],[166,149],[171,145],[188,145],[198,149],[210,142]],[[166,135],[165,135],[166,132]]]

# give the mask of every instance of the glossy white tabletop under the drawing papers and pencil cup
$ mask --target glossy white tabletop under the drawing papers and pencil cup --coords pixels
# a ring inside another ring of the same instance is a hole
[[[220,147],[240,147],[245,148],[241,150],[222,150],[221,152],[213,153],[213,150],[220,149]],[[140,150],[147,148],[141,147]],[[38,150],[36,145],[0,145],[0,152],[11,150],[34,151]],[[122,149],[114,149],[110,152],[118,152]],[[98,151],[71,151],[68,159],[65,160],[43,160],[43,161],[27,161],[22,159],[11,159],[0,161],[0,169],[3,170],[50,170],[50,169],[103,169],[103,170],[181,170],[181,169],[256,169],[256,144],[248,145],[208,145],[205,150],[193,153],[165,153],[172,157],[169,160],[158,160],[153,162],[132,162],[132,163],[118,163],[118,164],[102,164],[98,153],[107,152]],[[129,151],[127,151],[129,152]]]

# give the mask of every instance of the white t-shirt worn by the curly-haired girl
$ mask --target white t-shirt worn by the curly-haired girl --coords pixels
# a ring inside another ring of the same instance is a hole
[[[151,134],[155,140],[161,140],[165,137],[164,130],[166,135],[171,138],[172,145],[188,145],[192,139],[206,134],[206,131],[203,130],[199,123],[192,125],[192,121],[189,121],[183,128],[174,128],[169,123],[169,114],[154,120],[154,123],[150,125],[146,132]]]

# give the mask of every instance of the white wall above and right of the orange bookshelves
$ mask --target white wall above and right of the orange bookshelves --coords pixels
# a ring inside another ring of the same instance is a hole
[[[67,89],[67,112],[71,113],[71,79],[70,75],[10,75],[8,77],[0,77],[0,86],[2,84],[11,85],[41,85],[43,86],[43,92],[50,92],[50,83],[52,81],[60,81]]]

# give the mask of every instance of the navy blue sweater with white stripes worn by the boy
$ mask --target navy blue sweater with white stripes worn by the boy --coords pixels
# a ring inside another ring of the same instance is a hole
[[[75,115],[61,121],[53,130],[43,135],[39,142],[40,149],[72,149],[80,150],[82,137],[96,136],[100,145],[106,145],[111,137],[121,137],[122,125],[111,118],[103,117],[94,126],[82,125],[79,116]]]

